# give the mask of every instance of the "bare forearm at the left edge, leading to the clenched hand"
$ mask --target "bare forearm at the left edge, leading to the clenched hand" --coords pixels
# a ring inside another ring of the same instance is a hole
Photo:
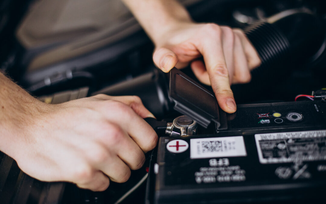
[[[13,157],[15,148],[30,139],[27,127],[33,123],[32,116],[41,103],[0,72],[1,151]]]

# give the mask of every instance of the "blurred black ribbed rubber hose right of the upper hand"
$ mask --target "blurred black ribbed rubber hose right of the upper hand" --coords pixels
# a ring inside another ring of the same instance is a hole
[[[284,68],[290,71],[298,65],[312,63],[313,56],[323,52],[320,50],[325,41],[323,21],[309,12],[282,13],[244,30],[262,62],[252,71],[253,80],[264,78],[261,77],[264,74],[284,72]]]

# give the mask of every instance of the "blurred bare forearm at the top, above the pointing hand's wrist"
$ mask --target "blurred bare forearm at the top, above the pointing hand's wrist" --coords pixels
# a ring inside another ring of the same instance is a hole
[[[169,30],[192,22],[187,10],[176,0],[122,0],[148,36],[157,43]]]

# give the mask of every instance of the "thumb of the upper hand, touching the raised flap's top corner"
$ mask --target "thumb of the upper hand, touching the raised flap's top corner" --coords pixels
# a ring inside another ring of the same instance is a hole
[[[177,55],[171,50],[161,47],[156,48],[153,54],[153,61],[160,70],[169,72],[178,62]]]

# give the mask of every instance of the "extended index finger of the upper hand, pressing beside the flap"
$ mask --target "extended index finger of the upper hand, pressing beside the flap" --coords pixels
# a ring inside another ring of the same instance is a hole
[[[212,28],[206,33],[211,36],[197,41],[197,48],[204,57],[206,70],[219,106],[225,112],[233,113],[236,111],[236,105],[223,53],[222,30],[214,25]]]

